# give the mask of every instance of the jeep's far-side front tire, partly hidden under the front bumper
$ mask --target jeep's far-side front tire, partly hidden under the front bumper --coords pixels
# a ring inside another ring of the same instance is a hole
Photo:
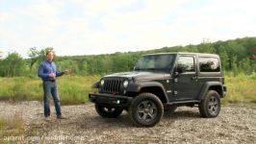
[[[122,108],[112,108],[112,107],[104,107],[99,104],[95,104],[95,109],[97,113],[106,118],[115,118],[122,113]]]

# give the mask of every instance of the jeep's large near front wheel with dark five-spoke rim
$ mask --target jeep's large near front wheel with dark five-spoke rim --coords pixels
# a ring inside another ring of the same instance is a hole
[[[141,93],[129,108],[131,120],[139,127],[153,127],[164,113],[160,99],[152,93]]]

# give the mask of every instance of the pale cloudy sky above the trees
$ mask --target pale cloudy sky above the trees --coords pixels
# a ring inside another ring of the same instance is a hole
[[[0,52],[134,52],[256,36],[254,0],[0,0]]]

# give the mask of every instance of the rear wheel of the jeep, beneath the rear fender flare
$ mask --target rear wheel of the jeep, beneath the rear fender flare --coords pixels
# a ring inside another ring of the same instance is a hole
[[[202,117],[217,117],[221,108],[218,92],[215,90],[208,90],[205,99],[200,102],[198,108]]]

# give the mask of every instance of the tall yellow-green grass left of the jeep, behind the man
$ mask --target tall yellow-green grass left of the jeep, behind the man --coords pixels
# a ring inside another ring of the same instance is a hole
[[[91,84],[98,76],[64,76],[57,80],[62,104],[82,104],[88,101]],[[42,82],[38,78],[0,78],[0,99],[42,101]]]

